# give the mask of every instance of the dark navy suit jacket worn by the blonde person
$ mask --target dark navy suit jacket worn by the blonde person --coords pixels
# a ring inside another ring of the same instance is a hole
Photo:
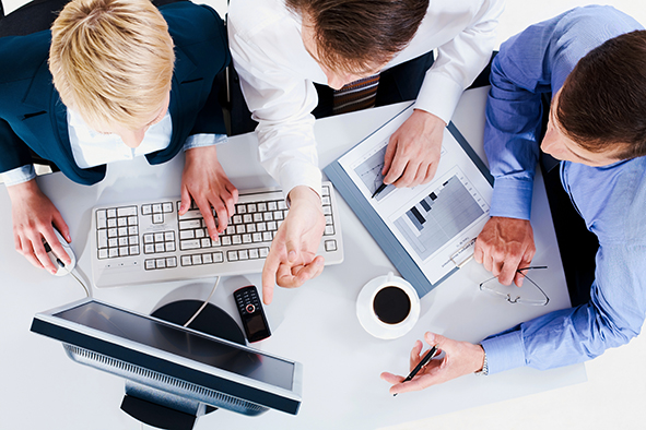
[[[188,1],[160,8],[175,43],[175,71],[168,107],[173,135],[167,148],[146,155],[165,163],[198,133],[225,134],[215,75],[231,61],[222,19]],[[80,168],[72,156],[67,108],[47,65],[51,32],[0,38],[0,172],[32,163],[31,147],[75,182],[92,184],[106,166]]]

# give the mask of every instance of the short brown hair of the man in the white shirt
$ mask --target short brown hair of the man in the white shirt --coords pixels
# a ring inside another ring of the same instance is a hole
[[[364,72],[389,61],[415,35],[428,0],[286,0],[314,24],[318,60]]]

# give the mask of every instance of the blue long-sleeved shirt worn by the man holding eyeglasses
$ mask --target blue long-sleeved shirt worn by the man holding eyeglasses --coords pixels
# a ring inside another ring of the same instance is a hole
[[[586,7],[533,25],[502,45],[492,65],[484,135],[495,177],[492,216],[529,219],[541,94],[556,94],[591,49],[642,28],[613,8]],[[490,373],[582,362],[626,344],[644,324],[646,157],[606,167],[562,162],[561,178],[588,229],[599,239],[591,299],[484,339]]]

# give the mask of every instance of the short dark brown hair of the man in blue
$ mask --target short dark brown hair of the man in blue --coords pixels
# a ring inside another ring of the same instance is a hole
[[[614,37],[582,58],[555,114],[565,134],[589,152],[646,155],[646,31]]]

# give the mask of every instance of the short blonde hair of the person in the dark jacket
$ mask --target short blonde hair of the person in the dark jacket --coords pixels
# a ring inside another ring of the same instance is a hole
[[[168,25],[149,0],[72,0],[51,26],[54,86],[93,127],[143,127],[171,91],[174,63]]]

